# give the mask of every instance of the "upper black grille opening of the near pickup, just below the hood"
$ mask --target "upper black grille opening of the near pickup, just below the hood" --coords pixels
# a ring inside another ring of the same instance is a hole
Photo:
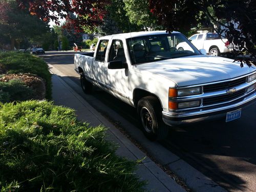
[[[240,84],[243,84],[245,82],[246,82],[246,77],[243,77],[243,78],[232,80],[232,81],[209,84],[207,86],[204,86],[204,93],[228,90],[228,89],[240,86]]]

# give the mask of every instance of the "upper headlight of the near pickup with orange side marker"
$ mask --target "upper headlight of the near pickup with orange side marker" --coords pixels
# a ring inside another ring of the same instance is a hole
[[[169,97],[181,97],[189,95],[198,95],[201,94],[201,87],[195,88],[184,88],[184,89],[169,89]]]

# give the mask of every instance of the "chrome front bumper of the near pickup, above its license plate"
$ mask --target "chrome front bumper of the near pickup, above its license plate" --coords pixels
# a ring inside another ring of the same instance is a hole
[[[227,112],[234,111],[240,108],[245,108],[256,101],[256,92],[245,97],[242,101],[221,106],[214,109],[203,111],[175,113],[175,112],[162,112],[163,121],[169,126],[182,125],[187,123],[194,123],[199,121],[207,121],[219,119],[226,116]]]

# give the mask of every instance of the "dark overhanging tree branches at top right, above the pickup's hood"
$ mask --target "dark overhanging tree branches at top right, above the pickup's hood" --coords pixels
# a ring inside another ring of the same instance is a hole
[[[256,65],[256,1],[251,0],[149,0],[151,12],[158,23],[167,31],[189,30],[198,22],[207,22],[212,27],[219,26],[218,32],[224,33],[231,43],[238,46],[236,55],[242,51],[250,57],[238,57],[248,66]]]

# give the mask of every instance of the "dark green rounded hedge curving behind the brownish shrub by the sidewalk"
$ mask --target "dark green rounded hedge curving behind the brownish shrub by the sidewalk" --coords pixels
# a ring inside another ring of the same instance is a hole
[[[9,74],[31,73],[46,81],[46,98],[51,99],[52,82],[47,63],[29,53],[2,52],[0,53],[1,67]]]

